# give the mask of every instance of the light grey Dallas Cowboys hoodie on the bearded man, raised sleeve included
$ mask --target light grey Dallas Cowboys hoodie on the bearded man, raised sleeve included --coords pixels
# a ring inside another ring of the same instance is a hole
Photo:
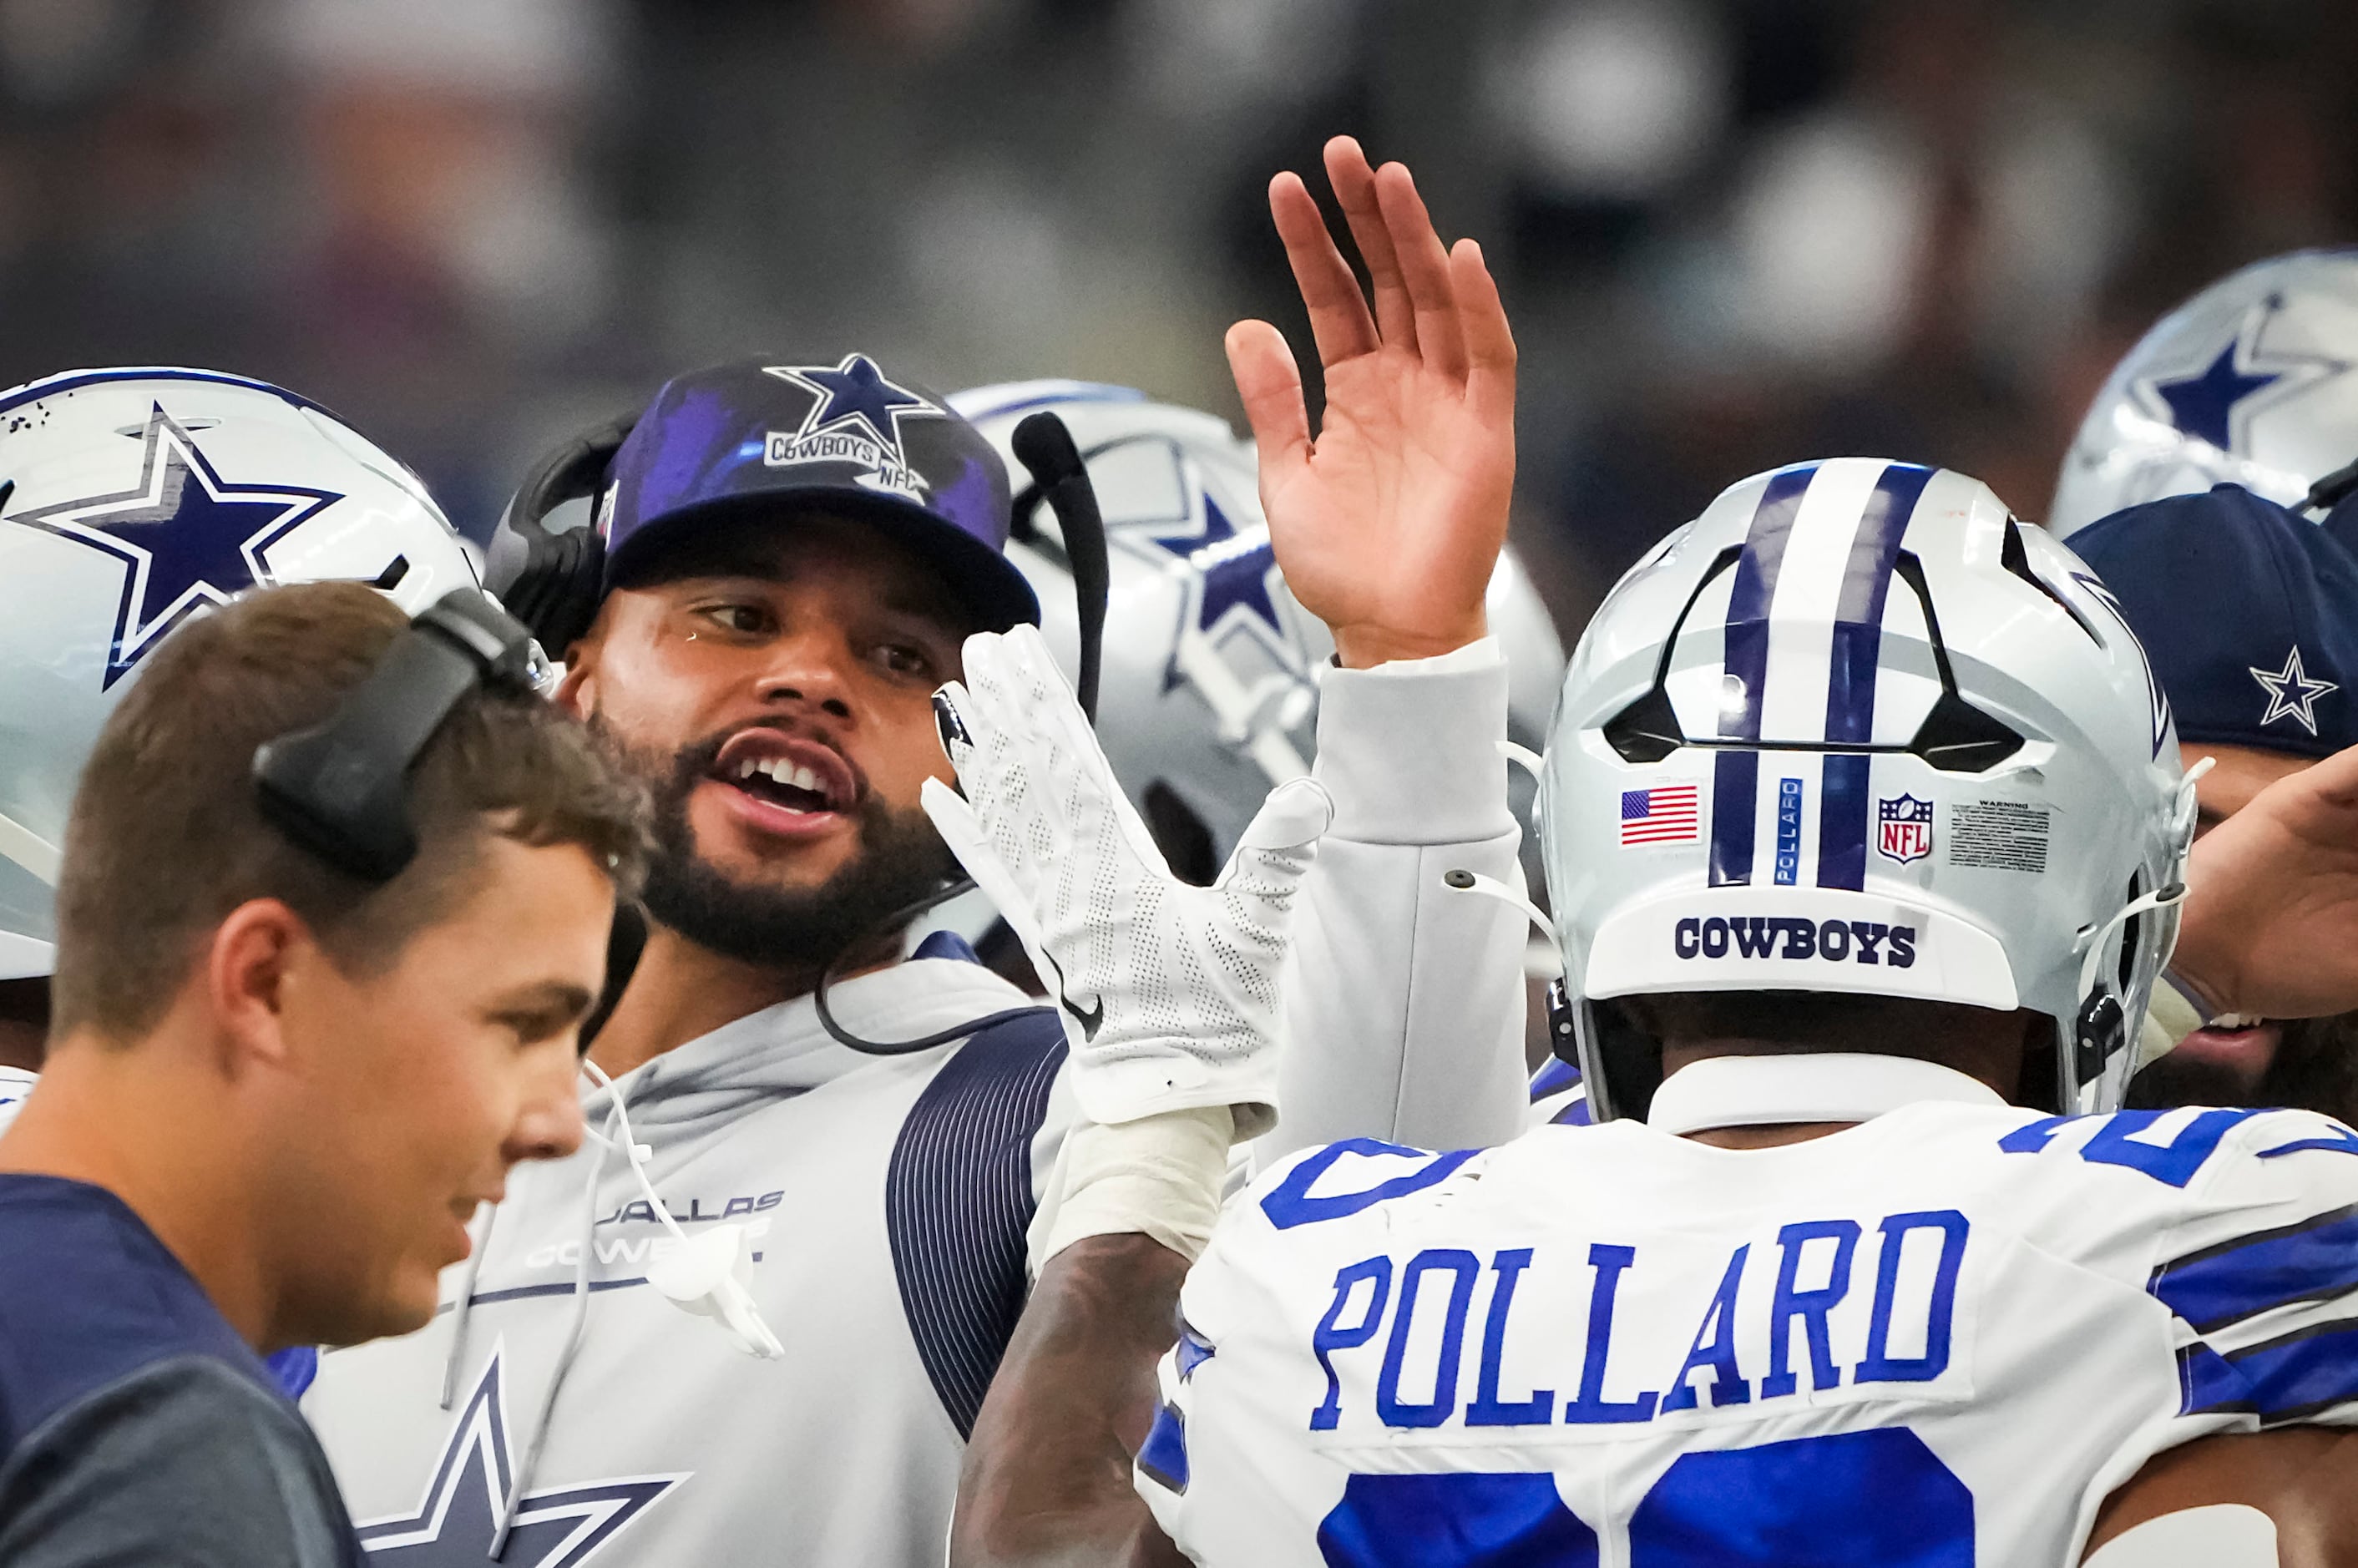
[[[1455,868],[1519,877],[1504,710],[1490,646],[1328,672],[1318,778],[1337,818],[1295,920],[1269,1148],[1519,1132],[1523,924],[1441,887]],[[922,957],[830,1002],[894,1040],[1026,997]],[[1061,1063],[1045,1009],[861,1056],[802,997],[615,1080],[681,1231],[745,1226],[750,1294],[785,1353],[745,1353],[646,1283],[677,1243],[620,1148],[521,1167],[429,1327],[321,1358],[304,1410],[363,1542],[387,1563],[479,1568],[521,1471],[507,1568],[592,1551],[599,1568],[938,1563],[964,1434],[1021,1311],[1023,1231],[1073,1118]],[[604,1094],[585,1106],[601,1127]]]

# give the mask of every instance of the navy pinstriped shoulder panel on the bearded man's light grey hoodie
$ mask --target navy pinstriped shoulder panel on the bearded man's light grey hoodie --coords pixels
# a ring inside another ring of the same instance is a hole
[[[901,1311],[962,1438],[1023,1316],[1030,1144],[1063,1052],[1047,1007],[976,1033],[910,1106],[884,1172]]]

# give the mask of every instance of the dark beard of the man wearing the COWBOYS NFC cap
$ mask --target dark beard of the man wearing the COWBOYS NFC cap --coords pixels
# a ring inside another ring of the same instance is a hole
[[[877,943],[884,922],[957,875],[957,861],[924,811],[894,811],[875,792],[858,806],[858,854],[818,887],[738,882],[696,854],[689,797],[736,731],[665,757],[625,745],[611,726],[592,731],[653,797],[656,854],[639,898],[646,913],[698,948],[740,964],[816,976],[847,950]]]

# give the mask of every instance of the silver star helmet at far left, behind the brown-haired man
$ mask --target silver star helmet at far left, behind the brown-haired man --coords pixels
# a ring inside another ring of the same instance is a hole
[[[73,785],[146,655],[321,578],[417,613],[474,568],[415,474],[292,391],[170,368],[0,391],[0,979],[50,974]]]

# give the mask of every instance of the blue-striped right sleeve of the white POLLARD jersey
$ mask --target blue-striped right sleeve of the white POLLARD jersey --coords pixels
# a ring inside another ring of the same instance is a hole
[[[2179,1424],[2358,1427],[2358,1132],[2313,1111],[2224,1125],[2148,1290],[2176,1318]]]

